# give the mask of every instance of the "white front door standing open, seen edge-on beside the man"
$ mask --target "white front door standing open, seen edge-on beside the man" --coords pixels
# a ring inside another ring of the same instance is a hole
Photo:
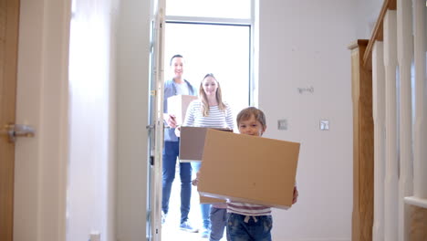
[[[151,17],[151,74],[149,108],[149,158],[147,236],[161,240],[161,176],[163,149],[163,37],[165,0],[152,0]]]

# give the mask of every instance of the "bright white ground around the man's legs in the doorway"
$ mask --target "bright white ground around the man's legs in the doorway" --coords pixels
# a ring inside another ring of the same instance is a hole
[[[177,165],[177,173],[175,180],[172,183],[172,193],[169,204],[169,214],[166,222],[161,226],[161,241],[207,241],[209,238],[202,238],[199,233],[189,233],[180,230],[180,205],[181,205],[181,181],[179,173],[179,165]],[[190,207],[189,222],[193,227],[201,228],[202,218],[200,213],[199,197],[197,187],[192,189],[192,202]],[[226,241],[224,237],[221,241]]]

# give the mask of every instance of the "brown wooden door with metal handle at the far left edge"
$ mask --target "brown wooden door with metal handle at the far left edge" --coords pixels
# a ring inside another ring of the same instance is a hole
[[[13,240],[15,143],[8,128],[16,120],[19,0],[0,1],[0,240]]]

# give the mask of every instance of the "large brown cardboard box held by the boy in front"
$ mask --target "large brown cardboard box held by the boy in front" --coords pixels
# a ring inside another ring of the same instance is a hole
[[[292,205],[299,146],[207,130],[198,191],[208,197],[286,209]]]

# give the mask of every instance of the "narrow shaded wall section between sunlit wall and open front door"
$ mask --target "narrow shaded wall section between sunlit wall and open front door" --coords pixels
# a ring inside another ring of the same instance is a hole
[[[121,0],[117,37],[117,238],[145,240],[150,0]]]

